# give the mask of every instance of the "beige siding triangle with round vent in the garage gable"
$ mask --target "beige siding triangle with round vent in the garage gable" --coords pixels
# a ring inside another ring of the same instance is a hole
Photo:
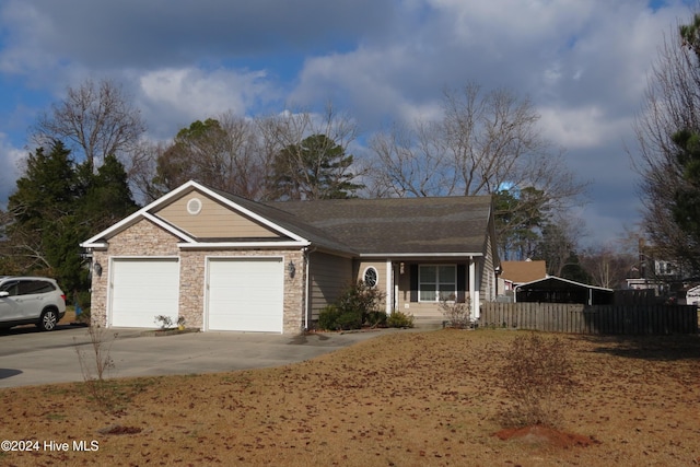
[[[201,211],[190,214],[187,203],[197,198],[201,201]],[[156,215],[177,225],[198,238],[279,238],[280,235],[229,207],[198,192],[190,191],[166,207],[158,210]]]

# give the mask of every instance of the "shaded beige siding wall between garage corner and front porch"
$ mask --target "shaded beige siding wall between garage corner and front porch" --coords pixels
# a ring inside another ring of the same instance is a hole
[[[352,259],[327,253],[312,253],[310,256],[310,307],[311,319],[318,319],[318,313],[336,301],[340,293],[352,283]]]

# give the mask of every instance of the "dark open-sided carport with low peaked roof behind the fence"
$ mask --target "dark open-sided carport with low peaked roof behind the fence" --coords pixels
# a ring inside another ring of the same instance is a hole
[[[610,305],[614,297],[615,291],[612,289],[588,285],[553,276],[515,288],[516,302]]]

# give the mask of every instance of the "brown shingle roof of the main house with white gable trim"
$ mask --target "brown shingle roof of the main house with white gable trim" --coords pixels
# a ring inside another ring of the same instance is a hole
[[[314,245],[352,256],[481,256],[492,230],[489,196],[257,202],[190,180],[81,246],[106,247],[107,238],[143,219],[178,237],[180,247],[254,246],[197,238],[156,214],[194,190],[280,234],[261,246]]]

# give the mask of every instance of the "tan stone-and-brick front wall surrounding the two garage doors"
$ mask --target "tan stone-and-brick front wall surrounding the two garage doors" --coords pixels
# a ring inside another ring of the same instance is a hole
[[[203,328],[205,273],[208,257],[281,257],[284,265],[283,332],[300,334],[303,330],[305,310],[305,264],[299,249],[180,249],[179,240],[149,220],[129,226],[108,240],[107,249],[93,250],[93,261],[102,267],[102,276],[93,275],[93,320],[107,326],[108,281],[110,259],[115,257],[178,257],[179,258],[179,316],[188,327]],[[295,265],[294,278],[287,266]]]

